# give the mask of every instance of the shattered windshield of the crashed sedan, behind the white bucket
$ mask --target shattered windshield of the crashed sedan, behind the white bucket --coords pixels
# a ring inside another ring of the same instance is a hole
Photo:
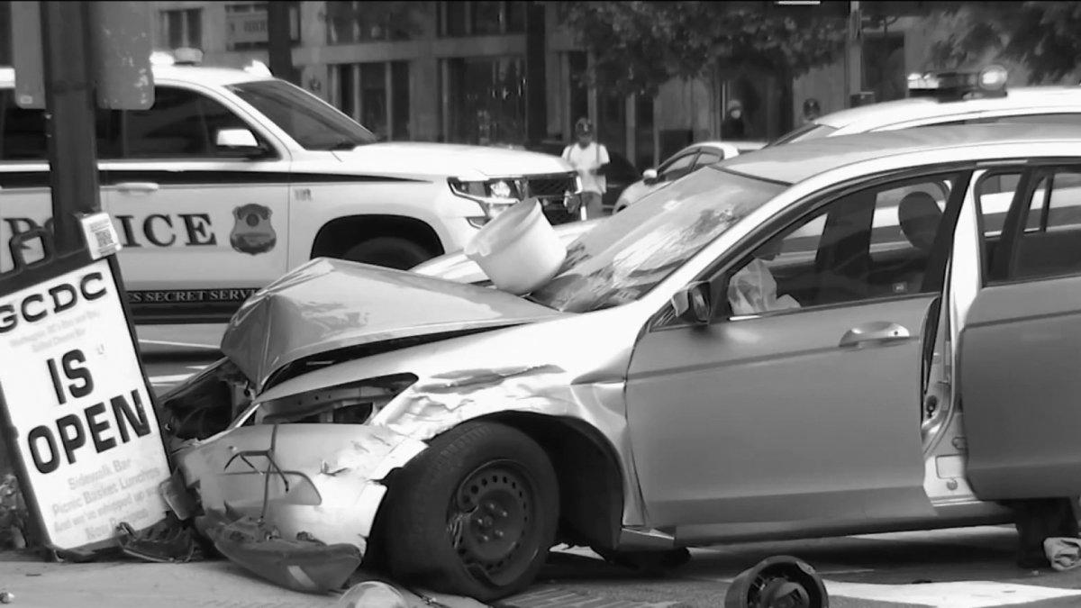
[[[723,169],[691,173],[572,242],[559,272],[531,300],[571,313],[638,300],[785,188]]]

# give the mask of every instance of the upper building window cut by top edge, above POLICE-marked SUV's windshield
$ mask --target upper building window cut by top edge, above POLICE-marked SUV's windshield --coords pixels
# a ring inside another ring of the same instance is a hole
[[[419,2],[328,2],[326,43],[409,40],[421,34],[424,9]]]

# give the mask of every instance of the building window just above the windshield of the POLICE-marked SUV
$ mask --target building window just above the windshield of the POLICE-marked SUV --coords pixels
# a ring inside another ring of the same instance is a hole
[[[333,68],[334,104],[381,141],[409,140],[409,62],[341,64]]]

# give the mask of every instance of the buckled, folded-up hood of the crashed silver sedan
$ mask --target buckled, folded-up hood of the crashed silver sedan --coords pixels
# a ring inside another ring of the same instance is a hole
[[[249,299],[222,352],[262,388],[283,366],[329,351],[559,315],[494,289],[321,257]]]

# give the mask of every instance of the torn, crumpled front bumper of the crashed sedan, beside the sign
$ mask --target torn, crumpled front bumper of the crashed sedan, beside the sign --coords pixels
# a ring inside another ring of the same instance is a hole
[[[390,428],[353,424],[241,426],[176,460],[204,512],[265,520],[281,538],[349,543],[361,552],[382,480],[425,449]]]

